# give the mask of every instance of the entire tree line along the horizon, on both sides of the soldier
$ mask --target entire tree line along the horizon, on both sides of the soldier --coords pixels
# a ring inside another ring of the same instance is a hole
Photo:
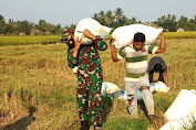
[[[182,15],[178,20],[175,15],[167,14],[158,18],[154,22],[142,22],[137,20],[135,17],[127,18],[124,15],[124,12],[121,8],[115,9],[114,11],[100,11],[99,13],[94,13],[91,18],[99,21],[101,24],[105,26],[110,26],[112,29],[116,29],[122,25],[128,25],[134,23],[142,23],[148,25],[158,25],[164,28],[164,31],[167,32],[176,32],[178,29],[183,31],[196,31],[196,15],[193,19],[188,19]],[[71,24],[70,26],[65,25],[64,28],[75,29],[75,24]],[[4,18],[0,14],[0,34],[19,34],[21,32],[25,34],[61,34],[63,28],[61,24],[51,24],[45,20],[40,20],[38,24],[32,22],[9,20],[6,23]]]

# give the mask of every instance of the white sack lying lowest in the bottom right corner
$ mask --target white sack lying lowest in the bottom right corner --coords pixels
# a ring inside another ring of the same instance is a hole
[[[169,120],[159,130],[185,130],[183,128],[192,129],[194,119],[196,119],[196,113],[185,118]]]

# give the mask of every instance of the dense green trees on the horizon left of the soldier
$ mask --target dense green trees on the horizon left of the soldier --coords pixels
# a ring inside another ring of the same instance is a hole
[[[4,18],[0,14],[0,34],[18,35],[24,33],[27,35],[42,35],[42,34],[61,34],[61,24],[51,24],[45,20],[40,20],[38,24],[24,21],[13,21],[9,19],[6,23]]]

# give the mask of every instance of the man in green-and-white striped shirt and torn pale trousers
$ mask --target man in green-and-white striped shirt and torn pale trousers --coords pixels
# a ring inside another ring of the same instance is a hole
[[[118,53],[116,53],[114,41],[115,40],[112,39],[110,43],[113,62],[118,62],[124,57],[126,61],[125,90],[131,118],[138,117],[137,89],[140,89],[149,120],[154,122],[154,100],[149,91],[149,80],[146,73],[147,55],[148,53],[155,54],[165,52],[164,35],[161,33],[161,44],[158,47],[155,45],[145,45],[145,35],[140,32],[135,33],[133,44],[131,43],[128,46],[121,48]]]

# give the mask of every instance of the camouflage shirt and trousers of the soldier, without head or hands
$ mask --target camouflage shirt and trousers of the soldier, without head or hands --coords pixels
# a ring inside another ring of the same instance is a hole
[[[96,45],[96,46],[95,46]],[[73,48],[68,50],[68,62],[71,68],[78,65],[76,101],[81,121],[92,121],[94,126],[102,124],[101,118],[101,88],[103,73],[101,67],[100,51],[105,51],[104,41],[96,41],[95,45],[81,46],[78,58],[73,57]]]

